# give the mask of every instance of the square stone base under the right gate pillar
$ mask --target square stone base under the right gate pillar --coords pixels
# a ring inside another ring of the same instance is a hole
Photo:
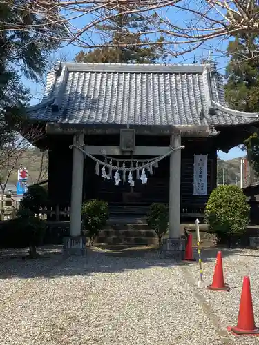
[[[160,257],[171,257],[171,259],[184,259],[185,240],[180,238],[163,239],[162,247],[160,248]]]

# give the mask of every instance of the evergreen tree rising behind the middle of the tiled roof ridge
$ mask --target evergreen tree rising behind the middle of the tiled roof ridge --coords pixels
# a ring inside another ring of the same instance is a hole
[[[119,11],[117,10],[118,13]],[[157,45],[148,46],[148,20],[142,14],[114,17],[108,23],[98,25],[97,30],[102,32],[103,37],[108,37],[102,43],[109,46],[90,51],[81,50],[75,57],[76,62],[155,63],[160,57],[166,58],[162,51],[163,37],[157,39]],[[136,46],[137,43],[146,43],[146,46]],[[121,47],[119,44],[126,46]]]

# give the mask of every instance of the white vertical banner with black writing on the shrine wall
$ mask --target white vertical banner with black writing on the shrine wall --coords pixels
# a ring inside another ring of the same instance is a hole
[[[194,155],[193,195],[207,195],[208,155]]]

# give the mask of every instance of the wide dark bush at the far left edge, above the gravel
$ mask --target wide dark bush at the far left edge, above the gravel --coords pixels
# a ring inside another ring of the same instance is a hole
[[[43,243],[46,224],[30,210],[21,209],[17,218],[6,221],[1,229],[2,246],[29,248],[30,257],[37,257],[36,247]]]

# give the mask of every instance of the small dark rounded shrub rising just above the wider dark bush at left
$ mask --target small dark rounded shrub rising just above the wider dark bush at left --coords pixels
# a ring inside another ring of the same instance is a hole
[[[46,206],[47,202],[48,193],[46,189],[39,186],[39,184],[32,184],[32,186],[28,186],[28,191],[24,193],[20,207],[31,210],[32,213],[39,215],[41,209]]]

